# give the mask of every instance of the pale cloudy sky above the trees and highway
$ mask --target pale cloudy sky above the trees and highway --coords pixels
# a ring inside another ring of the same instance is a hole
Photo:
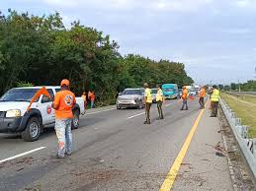
[[[120,44],[120,52],[183,62],[198,84],[253,80],[256,0],[0,0],[34,15],[59,12]]]

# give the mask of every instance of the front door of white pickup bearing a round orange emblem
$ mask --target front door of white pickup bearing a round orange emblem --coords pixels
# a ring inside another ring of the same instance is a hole
[[[46,89],[51,98],[54,98],[52,89]],[[40,110],[43,117],[43,125],[54,123],[55,111],[51,107],[52,101],[47,96],[42,96],[40,100]]]

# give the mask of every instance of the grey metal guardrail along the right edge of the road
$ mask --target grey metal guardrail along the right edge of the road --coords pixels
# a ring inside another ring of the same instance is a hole
[[[248,139],[248,126],[241,124],[241,119],[236,117],[233,110],[221,98],[219,102],[256,185],[256,138]]]

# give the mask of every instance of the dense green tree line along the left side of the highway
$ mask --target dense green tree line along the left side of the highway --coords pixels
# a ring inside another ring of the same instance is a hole
[[[0,95],[29,83],[58,85],[71,81],[74,92],[94,90],[110,103],[127,87],[163,83],[189,85],[183,63],[154,61],[139,55],[122,56],[109,35],[79,22],[65,28],[58,13],[49,16],[0,14]]]

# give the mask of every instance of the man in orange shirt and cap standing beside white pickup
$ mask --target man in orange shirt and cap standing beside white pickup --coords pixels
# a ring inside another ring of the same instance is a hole
[[[61,91],[55,95],[52,102],[52,108],[55,109],[55,132],[58,139],[57,159],[63,159],[65,155],[70,156],[72,152],[72,108],[76,100],[74,94],[69,91],[69,84],[66,79],[61,81]]]

